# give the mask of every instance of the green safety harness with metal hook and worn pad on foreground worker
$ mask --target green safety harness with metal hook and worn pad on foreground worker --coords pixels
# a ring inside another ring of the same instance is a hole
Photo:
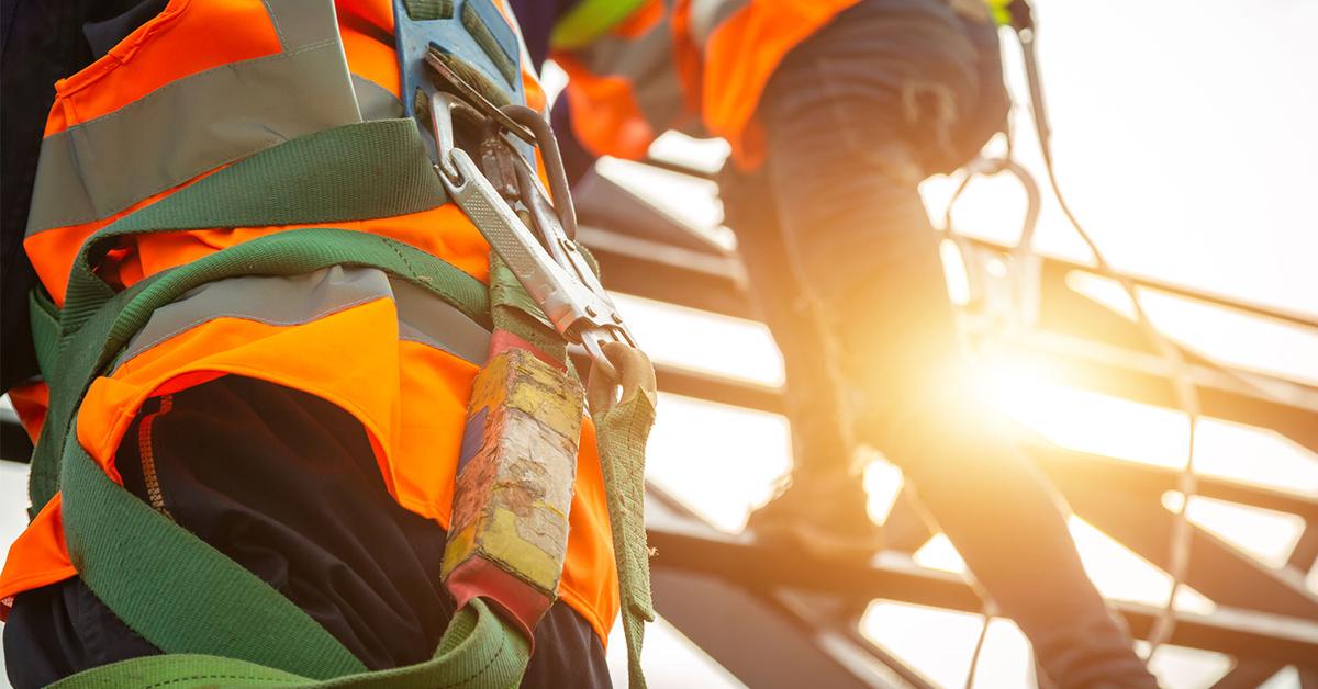
[[[564,563],[585,397],[568,344],[583,345],[592,361],[589,408],[630,680],[645,685],[641,639],[654,613],[642,503],[654,373],[600,287],[593,260],[564,229],[575,228],[575,217],[552,134],[538,113],[519,105],[517,72],[509,75],[506,62],[519,63],[515,36],[489,29],[506,29],[501,20],[472,20],[472,13],[497,12],[488,1],[453,5],[395,3],[406,109],[428,116],[434,141],[411,117],[294,138],[96,232],[76,257],[62,310],[34,292],[34,340],[50,386],[33,456],[34,505],[62,493],[79,576],[163,652],[55,686],[515,686]],[[426,79],[418,78],[418,61],[428,65]],[[498,96],[505,101],[497,104]],[[532,167],[536,149],[554,203]],[[488,287],[406,244],[333,227],[448,200],[494,248]],[[266,234],[124,290],[98,275],[107,253],[133,234],[275,224],[324,227]],[[113,369],[158,308],[225,278],[330,266],[382,270],[494,332],[468,408],[444,555],[444,580],[459,610],[434,657],[405,668],[369,672],[279,592],[112,481],[76,439],[76,410],[88,386]]]

